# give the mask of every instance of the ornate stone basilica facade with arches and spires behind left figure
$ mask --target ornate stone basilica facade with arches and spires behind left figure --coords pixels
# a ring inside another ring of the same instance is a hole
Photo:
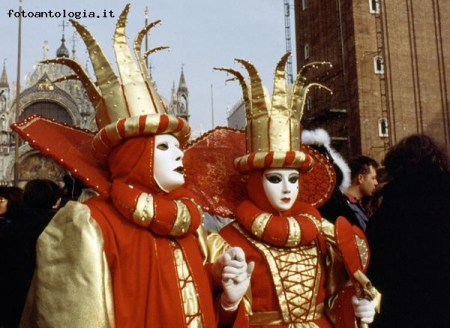
[[[43,49],[45,60],[48,59],[46,44]],[[71,55],[67,49],[64,35],[56,57],[77,60],[75,50],[72,50]],[[71,74],[73,72],[66,66],[39,62],[34,72],[26,76],[26,85],[21,88],[17,100],[17,91],[14,90],[16,86],[10,85],[6,65],[3,63],[0,77],[0,185],[23,187],[27,181],[37,178],[51,179],[63,185],[66,171],[50,157],[43,156],[31,148],[28,143],[19,139],[16,145],[16,134],[10,125],[38,114],[97,131],[94,109],[81,82],[76,79],[62,79],[63,76]],[[173,85],[167,108],[170,113],[189,119],[189,91],[183,70],[178,89],[175,88],[175,83]]]

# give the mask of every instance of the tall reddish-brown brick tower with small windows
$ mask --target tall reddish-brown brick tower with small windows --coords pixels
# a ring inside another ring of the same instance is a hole
[[[450,1],[295,0],[297,67],[330,61],[303,123],[345,156],[381,160],[424,132],[450,149]]]

